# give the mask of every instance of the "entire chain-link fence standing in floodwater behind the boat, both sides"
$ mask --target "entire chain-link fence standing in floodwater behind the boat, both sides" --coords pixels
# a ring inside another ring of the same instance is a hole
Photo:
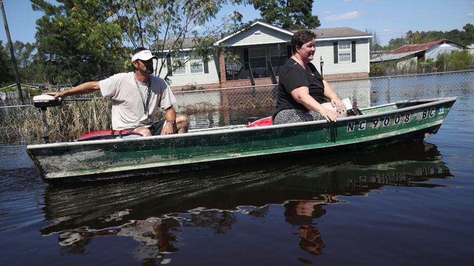
[[[431,74],[400,75],[377,78],[329,81],[339,98],[350,98],[360,108],[397,100],[455,96],[457,91],[474,89],[474,70]],[[183,114],[219,110],[246,110],[267,107],[276,102],[276,85],[237,87],[174,93],[175,108]],[[32,95],[26,102],[31,103]],[[101,130],[110,130],[111,101],[96,94],[91,101],[64,102],[48,108],[51,139],[74,139]],[[30,142],[42,136],[41,113],[32,105],[18,105],[18,100],[0,102],[0,140]],[[3,105],[3,106],[1,106]],[[270,116],[269,111],[267,116]],[[158,119],[162,117],[158,112]],[[20,136],[20,138],[18,138]]]

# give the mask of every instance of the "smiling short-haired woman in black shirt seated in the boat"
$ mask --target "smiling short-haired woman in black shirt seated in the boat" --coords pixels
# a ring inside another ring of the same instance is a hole
[[[315,120],[337,121],[347,116],[344,103],[310,63],[315,54],[316,35],[308,30],[291,38],[293,55],[281,69],[273,124]],[[329,100],[329,102],[327,102]]]

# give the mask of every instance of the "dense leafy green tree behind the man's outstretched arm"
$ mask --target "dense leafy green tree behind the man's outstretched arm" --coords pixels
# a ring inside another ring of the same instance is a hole
[[[53,68],[45,73],[48,81],[62,76],[74,84],[82,76],[97,79],[119,70],[116,61],[126,57],[127,49],[121,45],[118,23],[111,19],[111,7],[102,4],[112,1],[58,0],[57,6],[44,0],[31,2],[34,10],[44,12],[37,21],[36,38],[39,58]]]

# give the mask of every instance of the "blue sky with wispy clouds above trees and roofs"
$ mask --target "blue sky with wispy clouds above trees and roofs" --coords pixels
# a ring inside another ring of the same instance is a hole
[[[36,21],[42,13],[33,11],[29,0],[3,0],[3,4],[12,41],[35,42]],[[253,6],[228,5],[218,16],[235,9],[243,14],[243,22],[260,18]],[[386,45],[407,31],[446,32],[474,24],[474,0],[314,0],[312,13],[318,16],[320,29],[370,29]],[[0,40],[5,44],[2,25]]]

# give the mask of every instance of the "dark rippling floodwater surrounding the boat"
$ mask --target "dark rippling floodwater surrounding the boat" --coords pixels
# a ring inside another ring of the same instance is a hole
[[[469,75],[346,92],[359,105],[458,97],[425,143],[371,153],[50,186],[25,146],[1,145],[0,265],[472,265]],[[271,112],[197,114],[191,126]]]

